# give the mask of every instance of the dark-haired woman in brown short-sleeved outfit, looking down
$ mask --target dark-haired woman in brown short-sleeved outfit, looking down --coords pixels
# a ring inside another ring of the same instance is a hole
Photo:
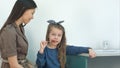
[[[26,60],[28,42],[24,26],[33,19],[36,3],[33,0],[17,0],[11,14],[0,30],[1,68],[31,68]]]

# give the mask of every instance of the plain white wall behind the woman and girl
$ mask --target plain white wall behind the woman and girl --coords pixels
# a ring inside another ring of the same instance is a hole
[[[0,27],[16,0],[0,2]],[[49,19],[65,20],[67,42],[75,46],[120,49],[120,0],[35,0],[34,19],[25,27],[29,41],[28,58],[35,62],[39,43],[45,39]]]

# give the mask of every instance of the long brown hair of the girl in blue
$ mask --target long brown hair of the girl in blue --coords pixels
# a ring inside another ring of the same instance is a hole
[[[57,49],[58,49],[58,59],[60,62],[60,68],[65,68],[65,63],[66,63],[65,29],[60,23],[50,23],[47,28],[46,41],[49,41],[49,34],[53,28],[60,29],[63,32],[61,42],[58,44]]]

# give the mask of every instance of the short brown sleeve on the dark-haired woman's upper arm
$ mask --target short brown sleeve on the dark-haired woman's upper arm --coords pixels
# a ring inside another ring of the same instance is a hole
[[[16,33],[12,29],[6,29],[1,34],[1,53],[7,58],[17,55]]]

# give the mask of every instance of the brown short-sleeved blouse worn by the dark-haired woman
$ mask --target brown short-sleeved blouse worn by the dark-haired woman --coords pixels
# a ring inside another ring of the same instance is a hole
[[[15,23],[7,25],[0,35],[1,57],[7,60],[10,56],[17,55],[18,60],[25,59],[28,50],[28,42],[24,29],[18,29]]]

